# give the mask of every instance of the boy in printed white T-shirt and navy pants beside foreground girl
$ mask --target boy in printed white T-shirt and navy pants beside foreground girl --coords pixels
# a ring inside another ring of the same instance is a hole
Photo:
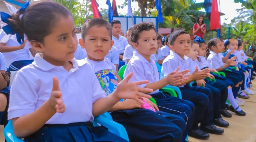
[[[82,27],[82,38],[79,43],[86,49],[88,56],[85,60],[92,65],[94,75],[100,82],[98,89],[104,90],[108,96],[120,81],[115,65],[105,58],[113,45],[111,26],[104,19],[87,20]],[[152,104],[149,100],[147,102]],[[113,120],[126,129],[130,142],[181,141],[186,125],[181,117],[138,108],[141,108],[140,104],[128,99],[116,103],[109,110],[113,111],[110,113]]]

